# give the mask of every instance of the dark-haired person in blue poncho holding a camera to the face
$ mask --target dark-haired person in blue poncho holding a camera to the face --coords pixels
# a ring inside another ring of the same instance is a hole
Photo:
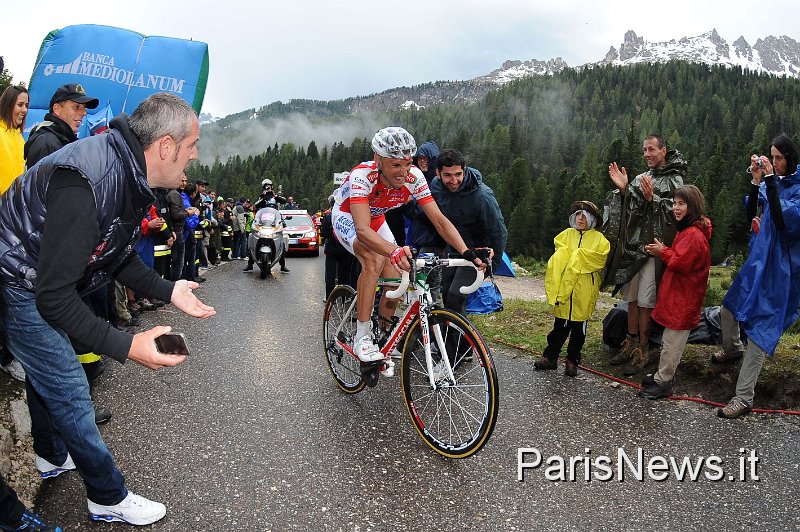
[[[786,135],[773,139],[769,153],[750,158],[748,216],[760,205],[761,228],[722,302],[749,339],[736,395],[717,411],[729,419],[750,412],[764,360],[800,316],[800,158]]]

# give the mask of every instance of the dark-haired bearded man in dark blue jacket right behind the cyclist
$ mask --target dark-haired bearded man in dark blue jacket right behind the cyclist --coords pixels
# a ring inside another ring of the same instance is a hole
[[[458,229],[467,247],[492,248],[492,270],[498,268],[508,231],[494,192],[483,183],[481,173],[467,167],[461,152],[445,149],[436,160],[436,178],[430,187],[439,209]],[[464,312],[467,296],[459,288],[475,282],[475,275],[474,268],[445,268],[442,294],[447,308]]]

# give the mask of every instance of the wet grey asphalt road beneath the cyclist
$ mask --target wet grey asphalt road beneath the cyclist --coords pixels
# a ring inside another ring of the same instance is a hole
[[[208,272],[198,290],[216,317],[146,315],[186,333],[186,363],[111,362],[98,382],[114,412],[101,431],[129,488],[167,505],[152,530],[797,530],[797,420],[721,420],[585,373],[534,373],[529,358],[493,346],[497,428],[474,457],[448,460],[418,438],[397,379],[355,396],[333,383],[321,257],[290,258],[290,274],[276,267],[265,280],[243,265]],[[541,455],[524,482],[519,448]],[[708,461],[692,481],[670,460]],[[68,531],[131,528],[90,522],[76,473],[47,481],[37,508]]]

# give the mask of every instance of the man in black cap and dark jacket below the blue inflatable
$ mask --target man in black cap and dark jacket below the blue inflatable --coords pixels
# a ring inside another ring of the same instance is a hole
[[[86,109],[96,109],[97,98],[86,95],[80,83],[60,86],[50,98],[50,112],[33,128],[25,143],[25,161],[32,168],[40,159],[78,140],[76,134]]]

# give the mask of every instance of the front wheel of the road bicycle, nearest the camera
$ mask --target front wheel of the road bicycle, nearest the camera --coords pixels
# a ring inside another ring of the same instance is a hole
[[[455,382],[442,377],[435,390],[431,387],[417,318],[403,345],[403,399],[411,422],[431,449],[448,458],[466,458],[486,444],[497,422],[499,387],[494,361],[480,333],[457,312],[435,309],[428,322],[432,342],[433,325],[441,328]],[[440,359],[435,353],[434,363]]]

